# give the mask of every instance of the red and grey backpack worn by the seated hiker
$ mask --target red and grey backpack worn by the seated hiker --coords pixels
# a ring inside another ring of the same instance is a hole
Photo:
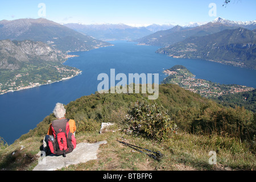
[[[48,144],[53,154],[65,157],[76,148],[76,138],[69,131],[68,121],[69,119],[56,119],[52,122],[53,137],[49,137]]]

